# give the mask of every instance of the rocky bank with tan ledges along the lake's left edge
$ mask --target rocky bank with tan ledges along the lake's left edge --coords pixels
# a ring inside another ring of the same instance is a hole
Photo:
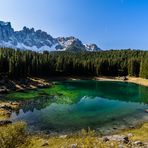
[[[49,88],[52,83],[40,78],[26,78],[20,80],[10,80],[7,77],[0,77],[0,126],[10,124],[9,120],[12,112],[18,111],[20,102],[7,101],[5,94],[14,91],[25,91],[37,88]]]

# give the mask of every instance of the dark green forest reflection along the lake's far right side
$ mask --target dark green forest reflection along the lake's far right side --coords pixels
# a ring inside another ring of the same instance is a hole
[[[88,96],[89,92],[90,98],[101,97],[108,100],[148,104],[148,88],[133,83],[75,81],[72,84],[68,82],[65,82],[65,84],[82,90],[81,95],[83,96]]]

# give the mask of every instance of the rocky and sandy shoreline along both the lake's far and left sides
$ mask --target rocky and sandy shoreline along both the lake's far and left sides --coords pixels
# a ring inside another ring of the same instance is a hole
[[[10,114],[13,110],[16,110],[20,106],[20,102],[7,101],[4,98],[5,94],[11,92],[35,90],[41,88],[50,88],[54,85],[54,81],[66,81],[66,80],[96,80],[96,81],[114,81],[114,82],[128,82],[148,87],[148,79],[138,77],[51,77],[51,78],[26,78],[22,80],[0,80],[0,87],[4,88],[4,92],[0,92],[0,118],[9,120]],[[2,82],[3,81],[3,82]],[[6,82],[6,83],[5,83]],[[12,85],[13,84],[13,85]],[[8,87],[8,88],[7,88]],[[13,105],[14,104],[14,105]],[[3,117],[5,116],[5,117]]]

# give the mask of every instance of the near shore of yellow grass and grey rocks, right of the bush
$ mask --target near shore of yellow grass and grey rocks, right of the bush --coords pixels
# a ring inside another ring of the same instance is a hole
[[[143,132],[141,132],[143,131]],[[148,148],[148,124],[140,128],[118,133],[116,135],[99,136],[94,131],[83,131],[79,134],[31,137],[34,147],[101,147],[101,148]],[[141,135],[139,134],[141,132]],[[137,137],[138,135],[138,137]]]

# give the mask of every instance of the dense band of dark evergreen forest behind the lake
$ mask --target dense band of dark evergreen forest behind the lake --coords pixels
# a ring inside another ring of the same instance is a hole
[[[27,76],[136,76],[148,78],[148,52],[44,52],[0,49],[0,73],[17,79]]]

